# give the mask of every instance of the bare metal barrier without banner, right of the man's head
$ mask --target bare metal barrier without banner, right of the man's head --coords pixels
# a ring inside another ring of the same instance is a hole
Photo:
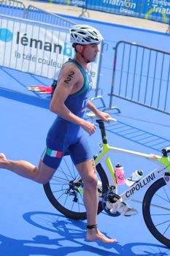
[[[109,94],[170,114],[170,53],[120,41],[115,47]]]

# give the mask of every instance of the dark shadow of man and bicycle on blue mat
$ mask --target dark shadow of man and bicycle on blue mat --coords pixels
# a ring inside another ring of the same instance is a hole
[[[28,256],[28,255],[69,255],[81,252],[92,252],[96,255],[110,256],[142,256],[169,255],[169,249],[166,246],[158,246],[158,244],[147,243],[129,243],[121,246],[120,244],[101,244],[89,243],[85,241],[85,222],[67,219],[61,214],[53,214],[49,212],[34,211],[23,214],[26,222],[56,233],[59,238],[50,239],[48,236],[35,236],[31,240],[14,239],[0,235],[0,255],[5,256]],[[38,230],[37,230],[38,232]],[[81,240],[82,238],[82,240]],[[66,246],[63,246],[66,241]],[[70,243],[70,246],[68,244]],[[75,245],[74,245],[75,244]],[[95,247],[97,245],[97,247]],[[133,252],[134,247],[144,246],[144,250],[140,249],[140,253]],[[150,246],[152,247],[150,249]],[[112,252],[112,248],[115,252]],[[147,248],[147,249],[146,249]],[[109,251],[107,250],[109,249]],[[155,253],[155,249],[158,252]],[[161,252],[163,250],[164,252]],[[142,252],[142,253],[141,253]],[[87,254],[86,254],[87,255]]]

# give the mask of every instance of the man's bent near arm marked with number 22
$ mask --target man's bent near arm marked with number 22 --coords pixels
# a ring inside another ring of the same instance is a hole
[[[50,102],[50,110],[63,119],[80,125],[91,135],[96,131],[95,125],[74,115],[64,104],[69,94],[74,93],[74,87],[79,82],[80,73],[77,67],[74,67],[74,64],[66,64],[66,66],[61,69],[61,74],[58,77],[58,85],[53,94],[52,101]]]

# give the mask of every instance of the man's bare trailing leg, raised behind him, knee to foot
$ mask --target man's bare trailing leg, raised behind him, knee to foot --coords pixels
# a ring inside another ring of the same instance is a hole
[[[30,178],[40,184],[45,184],[53,176],[55,168],[45,165],[42,160],[39,161],[39,167],[32,165],[26,161],[12,161],[5,157],[4,154],[0,153],[0,168],[11,170],[25,178]]]

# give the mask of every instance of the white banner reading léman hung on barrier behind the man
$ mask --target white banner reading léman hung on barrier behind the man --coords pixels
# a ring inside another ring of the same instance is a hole
[[[64,62],[74,56],[69,29],[0,15],[0,65],[56,79]],[[100,56],[91,67],[96,88]]]

